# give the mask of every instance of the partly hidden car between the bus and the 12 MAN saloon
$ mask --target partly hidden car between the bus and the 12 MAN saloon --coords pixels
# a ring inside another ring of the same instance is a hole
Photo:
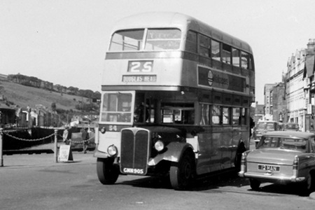
[[[260,120],[257,125],[253,129],[253,140],[255,141],[255,145],[257,146],[260,138],[263,134],[270,132],[281,130],[281,126],[279,122],[272,120]]]

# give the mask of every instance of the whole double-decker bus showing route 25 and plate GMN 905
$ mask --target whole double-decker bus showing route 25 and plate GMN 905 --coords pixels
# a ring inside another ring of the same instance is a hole
[[[183,190],[235,169],[255,101],[248,43],[180,13],[142,13],[113,28],[102,76],[97,176],[169,176]]]

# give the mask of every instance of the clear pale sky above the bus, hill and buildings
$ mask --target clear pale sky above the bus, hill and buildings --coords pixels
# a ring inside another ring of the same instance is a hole
[[[111,29],[150,11],[190,15],[249,43],[258,104],[315,38],[314,0],[1,0],[0,73],[100,92]]]

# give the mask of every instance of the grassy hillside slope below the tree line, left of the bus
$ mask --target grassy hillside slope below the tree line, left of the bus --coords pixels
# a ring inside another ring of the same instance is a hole
[[[35,107],[36,104],[41,104],[50,109],[51,104],[55,102],[57,109],[72,109],[73,111],[76,110],[75,107],[80,102],[89,102],[89,99],[85,97],[51,92],[36,87],[20,85],[5,79],[0,80],[0,96],[20,107]],[[0,103],[3,105],[2,101]]]

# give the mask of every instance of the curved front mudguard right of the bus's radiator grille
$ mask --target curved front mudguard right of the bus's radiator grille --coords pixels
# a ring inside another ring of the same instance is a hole
[[[171,142],[165,148],[165,151],[159,153],[155,158],[150,158],[148,165],[155,166],[158,165],[162,160],[167,160],[170,162],[179,162],[183,152],[186,150],[191,150],[193,152],[193,146],[188,143],[183,142]]]

